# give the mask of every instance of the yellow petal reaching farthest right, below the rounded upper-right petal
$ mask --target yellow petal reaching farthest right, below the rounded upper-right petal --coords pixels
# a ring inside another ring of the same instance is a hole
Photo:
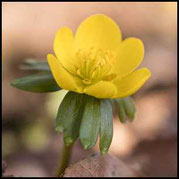
[[[150,71],[147,68],[141,68],[121,80],[116,80],[114,84],[116,85],[118,92],[113,98],[132,95],[147,81],[150,75]]]

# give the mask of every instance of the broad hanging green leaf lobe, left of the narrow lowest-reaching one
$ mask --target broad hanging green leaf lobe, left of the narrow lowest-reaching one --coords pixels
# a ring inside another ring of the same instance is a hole
[[[84,149],[89,149],[96,144],[100,119],[100,99],[87,96],[80,126],[80,140]]]

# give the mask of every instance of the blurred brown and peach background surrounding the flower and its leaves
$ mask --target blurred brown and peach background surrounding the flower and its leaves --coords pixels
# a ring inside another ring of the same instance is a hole
[[[104,13],[114,19],[123,38],[143,40],[141,67],[150,80],[135,94],[133,123],[114,118],[109,150],[141,176],[177,176],[177,3],[176,2],[4,2],[2,8],[3,128],[2,156],[7,174],[54,176],[62,146],[54,121],[66,91],[36,94],[9,85],[27,74],[19,70],[26,58],[46,60],[53,53],[56,31],[75,32],[87,16]],[[74,146],[71,164],[99,151]]]

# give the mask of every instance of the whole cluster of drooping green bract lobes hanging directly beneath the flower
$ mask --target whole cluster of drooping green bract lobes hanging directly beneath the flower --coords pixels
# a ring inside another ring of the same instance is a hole
[[[112,141],[112,103],[110,99],[97,99],[86,94],[69,91],[60,104],[56,131],[63,132],[66,145],[80,137],[84,149],[96,144],[100,133],[100,150],[108,151]]]

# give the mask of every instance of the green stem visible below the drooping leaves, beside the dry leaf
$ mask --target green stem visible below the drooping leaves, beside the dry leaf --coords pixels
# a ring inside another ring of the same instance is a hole
[[[63,148],[62,148],[62,153],[57,165],[57,169],[56,169],[56,176],[57,177],[61,177],[62,173],[65,171],[65,169],[68,167],[69,161],[70,161],[70,157],[71,157],[71,151],[72,151],[72,146],[66,146],[63,143]]]

